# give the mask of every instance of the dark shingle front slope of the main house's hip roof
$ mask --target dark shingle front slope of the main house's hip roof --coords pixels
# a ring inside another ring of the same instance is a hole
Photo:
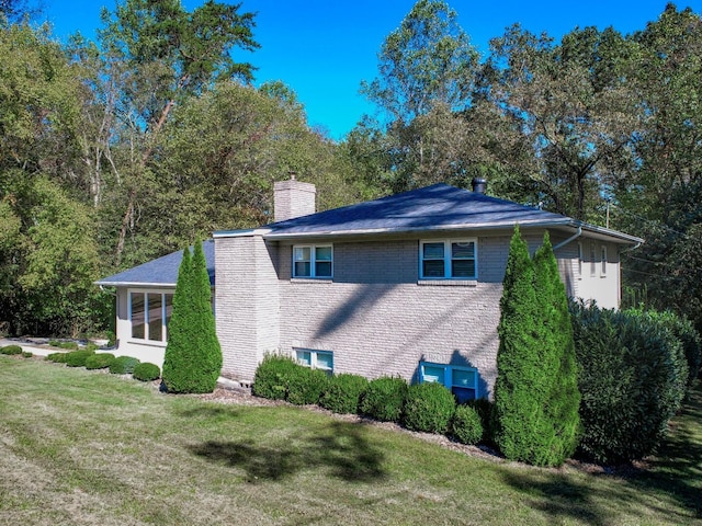
[[[448,184],[274,222],[265,237],[569,225],[573,219]]]

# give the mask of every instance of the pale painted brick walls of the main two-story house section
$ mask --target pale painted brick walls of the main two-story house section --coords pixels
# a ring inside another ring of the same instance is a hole
[[[543,232],[525,238],[533,253]],[[291,278],[292,243],[218,238],[217,334],[224,373],[251,380],[267,351],[303,347],[331,351],[335,371],[369,378],[399,375],[416,380],[422,359],[477,367],[479,395],[490,396],[509,240],[479,237],[478,281],[456,286],[418,283],[419,239],[335,242],[333,279],[315,281]],[[577,242],[557,255],[567,290],[588,290],[598,304],[609,305],[602,290],[611,294],[609,287],[619,285],[614,245],[608,248],[607,277],[598,277],[602,289],[575,275]]]

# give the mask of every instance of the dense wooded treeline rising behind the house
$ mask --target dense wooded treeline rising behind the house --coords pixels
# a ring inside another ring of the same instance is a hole
[[[420,0],[362,83],[377,115],[341,141],[310,128],[282,82],[252,85],[245,4],[123,0],[97,42],[68,43],[23,18],[24,1],[0,12],[0,331],[104,329],[113,298],[94,279],[269,222],[290,172],[318,186],[320,209],[480,175],[491,195],[609,221],[646,239],[622,254],[625,298],[702,329],[690,9],[669,4],[630,35],[513,25],[480,57],[446,3]]]

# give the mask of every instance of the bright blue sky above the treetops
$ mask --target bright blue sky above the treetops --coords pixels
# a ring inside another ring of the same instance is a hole
[[[226,0],[225,0],[226,1]],[[410,11],[414,0],[239,0],[240,11],[257,12],[254,37],[261,48],[235,58],[257,66],[256,83],[282,80],[305,105],[308,122],[342,138],[374,107],[359,94],[362,80],[377,71],[377,52],[385,36]],[[184,0],[191,10],[202,0]],[[233,2],[236,3],[236,2]],[[531,2],[449,1],[473,45],[485,55],[488,41],[519,22],[534,32],[561,37],[576,26],[614,26],[622,33],[645,27],[663,12],[667,0],[590,0]],[[58,38],[80,31],[93,38],[102,5],[115,0],[44,0],[45,19]],[[702,12],[702,0],[676,2]]]

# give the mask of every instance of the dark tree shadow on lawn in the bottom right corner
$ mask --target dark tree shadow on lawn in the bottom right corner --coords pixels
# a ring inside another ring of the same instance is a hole
[[[661,456],[649,469],[631,468],[616,476],[591,474],[609,483],[576,479],[548,470],[506,470],[503,480],[518,490],[532,508],[555,522],[578,519],[596,526],[618,519],[618,508],[650,521],[650,513],[665,515],[671,523],[702,518],[702,386],[693,392],[684,411],[675,420]],[[664,456],[665,455],[665,456]],[[671,505],[681,510],[676,514]]]

